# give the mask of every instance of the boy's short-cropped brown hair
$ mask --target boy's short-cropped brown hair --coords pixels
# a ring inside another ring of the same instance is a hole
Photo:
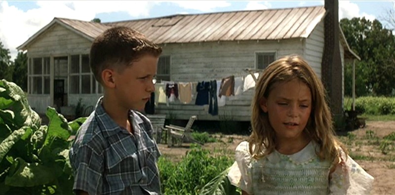
[[[162,49],[143,34],[128,27],[113,27],[104,31],[92,43],[89,66],[96,80],[107,68],[121,71],[144,55],[159,57]]]

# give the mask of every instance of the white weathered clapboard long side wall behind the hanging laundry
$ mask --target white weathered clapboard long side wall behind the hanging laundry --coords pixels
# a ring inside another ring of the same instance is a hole
[[[244,69],[255,69],[255,52],[275,51],[277,58],[303,54],[300,39],[166,44],[162,48],[162,55],[171,56],[170,74],[175,82],[220,80],[232,75],[245,77],[248,73]],[[196,97],[190,104],[159,104],[156,113],[176,119],[189,119],[196,115],[199,120],[249,121],[254,90],[250,88],[240,95],[226,97],[226,105],[218,108],[217,116],[208,113],[208,105],[194,105]]]

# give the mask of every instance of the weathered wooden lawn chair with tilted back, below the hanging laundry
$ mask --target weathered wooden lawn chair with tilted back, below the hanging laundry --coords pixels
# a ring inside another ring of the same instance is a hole
[[[185,127],[177,126],[177,125],[165,125],[167,129],[167,146],[174,146],[174,142],[178,140],[178,145],[181,146],[182,143],[197,143],[203,145],[199,141],[195,140],[192,137],[193,129],[191,129],[192,124],[194,123],[196,116],[191,116],[188,120],[188,123]]]

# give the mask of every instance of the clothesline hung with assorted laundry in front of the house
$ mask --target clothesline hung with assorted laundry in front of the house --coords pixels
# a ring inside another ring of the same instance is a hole
[[[209,105],[211,115],[218,114],[218,107],[225,106],[225,97],[235,98],[255,86],[261,70],[244,69],[246,76],[234,75],[206,81],[165,81],[155,86],[155,106],[179,102],[181,104]],[[195,100],[195,101],[194,101]]]

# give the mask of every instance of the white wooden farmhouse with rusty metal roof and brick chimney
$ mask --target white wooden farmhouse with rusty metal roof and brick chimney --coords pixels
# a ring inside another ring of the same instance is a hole
[[[178,14],[159,18],[94,23],[54,18],[18,47],[28,54],[28,100],[38,113],[47,106],[95,105],[102,88],[89,69],[93,39],[113,26],[128,26],[158,43],[163,53],[158,78],[187,82],[247,75],[277,57],[300,54],[323,79],[334,114],[343,108],[345,59],[358,59],[339,27],[337,1],[325,6]],[[326,47],[326,48],[325,48]],[[324,52],[325,48],[325,52]],[[218,116],[194,104],[159,104],[158,114],[177,119],[250,120],[254,88],[226,100]],[[66,112],[66,111],[65,111]]]

